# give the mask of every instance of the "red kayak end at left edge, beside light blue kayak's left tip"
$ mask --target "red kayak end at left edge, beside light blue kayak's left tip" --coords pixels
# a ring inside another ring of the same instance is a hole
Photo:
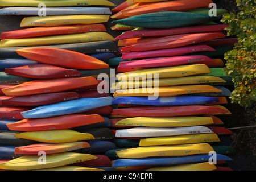
[[[20,114],[24,111],[31,110],[26,107],[0,107],[0,119],[6,120],[22,120],[23,116]]]

